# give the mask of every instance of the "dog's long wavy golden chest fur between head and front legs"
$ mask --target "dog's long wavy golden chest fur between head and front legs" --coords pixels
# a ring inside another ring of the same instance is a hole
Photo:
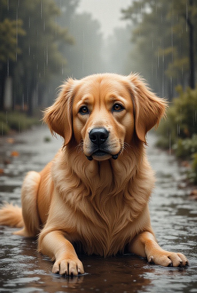
[[[61,160],[60,163],[58,159],[58,164],[54,163],[52,178],[65,205],[62,229],[67,239],[82,243],[88,254],[123,252],[125,245],[145,225],[143,221],[138,224],[138,220],[154,185],[150,166],[146,163],[135,176],[129,170],[130,166],[125,166],[121,171],[126,179],[122,180],[121,172],[114,177],[115,171],[109,163],[105,168],[101,166],[98,176],[95,168],[86,168],[77,174],[79,164],[76,164],[75,173],[71,172],[64,162]],[[134,170],[132,166],[130,169]],[[137,222],[135,225],[134,221]]]

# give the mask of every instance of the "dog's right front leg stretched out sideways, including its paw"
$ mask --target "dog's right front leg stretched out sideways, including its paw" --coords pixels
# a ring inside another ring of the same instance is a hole
[[[188,265],[188,260],[182,253],[169,252],[162,249],[155,237],[148,231],[135,236],[130,243],[130,252],[147,257],[149,263],[164,267],[182,267]]]

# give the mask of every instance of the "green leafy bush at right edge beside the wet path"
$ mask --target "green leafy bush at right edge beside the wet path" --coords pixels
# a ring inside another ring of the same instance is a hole
[[[178,98],[174,98],[168,113],[166,122],[162,121],[158,127],[159,139],[157,147],[171,149],[177,158],[193,160],[193,173],[190,180],[197,183],[197,88],[186,91],[177,87]]]

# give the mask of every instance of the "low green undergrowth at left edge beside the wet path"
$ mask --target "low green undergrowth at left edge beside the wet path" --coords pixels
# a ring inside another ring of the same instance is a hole
[[[7,134],[9,129],[22,131],[29,129],[32,125],[39,124],[40,121],[36,118],[30,118],[25,113],[21,112],[0,112],[0,124],[3,123],[4,134]]]

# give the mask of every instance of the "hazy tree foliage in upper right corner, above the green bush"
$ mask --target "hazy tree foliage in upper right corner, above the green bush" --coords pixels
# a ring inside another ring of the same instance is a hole
[[[189,54],[193,45],[188,46],[191,41],[184,19],[186,3],[185,0],[140,0],[133,1],[128,9],[122,11],[123,17],[130,19],[136,27],[132,41],[139,61],[137,71],[143,73],[161,96],[168,95],[169,98],[176,84],[185,85],[190,70],[193,76],[196,62],[193,58],[189,63],[188,58],[193,56],[192,52]],[[190,4],[187,6],[187,19],[192,19],[196,31],[197,4],[192,1],[193,6],[189,7]],[[191,10],[193,14],[189,12]],[[193,80],[191,76],[190,80]],[[190,85],[193,86],[191,82]]]

